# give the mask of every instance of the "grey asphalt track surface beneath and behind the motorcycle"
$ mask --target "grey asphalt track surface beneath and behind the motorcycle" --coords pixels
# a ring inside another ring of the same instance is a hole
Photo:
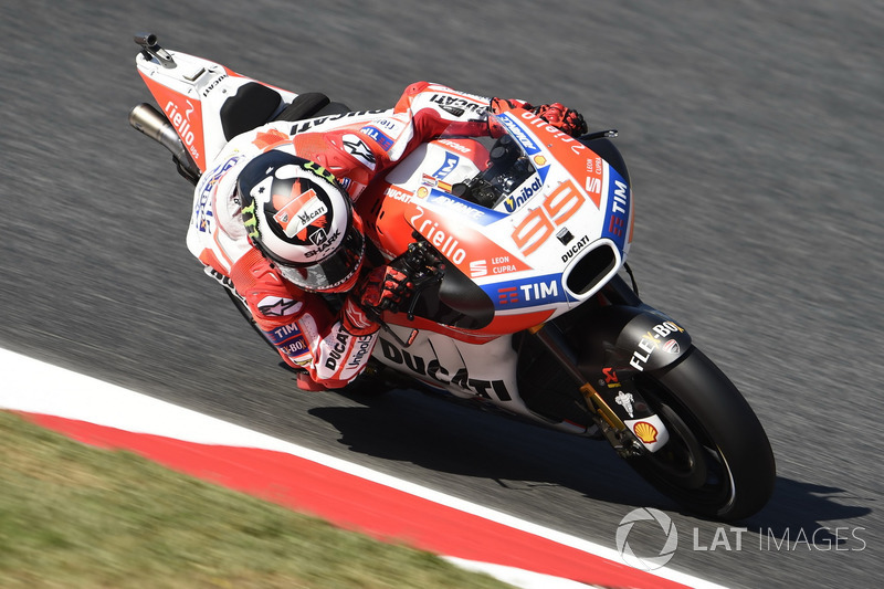
[[[3,2],[0,346],[611,547],[631,509],[659,507],[680,532],[670,566],[716,582],[870,587],[884,577],[884,4],[715,4]],[[618,128],[642,296],[760,416],[770,504],[737,533],[680,512],[601,443],[410,391],[295,390],[187,252],[189,185],[127,125],[149,99],[139,31],[354,107],[431,80]]]

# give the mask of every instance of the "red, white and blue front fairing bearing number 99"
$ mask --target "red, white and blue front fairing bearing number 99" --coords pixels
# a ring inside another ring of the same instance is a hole
[[[440,292],[467,304],[436,296],[418,305],[428,322],[408,325],[465,341],[516,333],[588,301],[622,266],[632,236],[631,190],[612,166],[530,112],[490,116],[501,135],[487,148],[434,141],[358,203],[376,220],[368,234],[387,257],[414,236],[445,257]],[[401,314],[386,319],[407,325]]]

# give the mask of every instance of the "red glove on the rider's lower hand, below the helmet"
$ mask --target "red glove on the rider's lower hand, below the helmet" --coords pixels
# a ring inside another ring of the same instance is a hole
[[[397,313],[413,284],[392,266],[378,266],[368,273],[344,303],[344,327],[354,335],[378,330],[381,313]]]

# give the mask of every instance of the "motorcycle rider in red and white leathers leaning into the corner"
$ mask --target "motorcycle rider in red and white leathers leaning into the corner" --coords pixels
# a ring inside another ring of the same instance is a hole
[[[583,117],[559,103],[533,107],[419,82],[391,111],[340,117],[322,132],[271,123],[234,137],[194,191],[188,249],[232,290],[298,371],[303,390],[339,388],[365,368],[377,317],[412,287],[391,265],[368,269],[362,221],[352,208],[372,178],[442,136],[496,136],[487,112],[513,107],[571,136]],[[346,294],[333,311],[326,294]]]

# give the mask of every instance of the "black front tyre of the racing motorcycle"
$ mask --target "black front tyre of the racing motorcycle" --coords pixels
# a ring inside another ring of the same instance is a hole
[[[629,459],[657,491],[691,512],[748,517],[774,491],[776,465],[761,423],[730,380],[702,351],[641,372],[635,386],[670,432],[655,453]]]

